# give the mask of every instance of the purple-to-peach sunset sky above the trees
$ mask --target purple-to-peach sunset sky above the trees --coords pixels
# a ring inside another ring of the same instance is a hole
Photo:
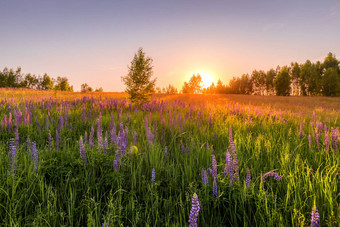
[[[340,58],[339,0],[0,0],[0,70],[124,91],[142,47],[156,86],[194,73],[224,83],[254,69]],[[205,86],[210,84],[205,84]]]

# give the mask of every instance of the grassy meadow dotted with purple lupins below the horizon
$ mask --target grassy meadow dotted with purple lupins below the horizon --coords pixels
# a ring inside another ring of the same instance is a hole
[[[1,226],[340,225],[340,98],[126,97],[0,89]]]

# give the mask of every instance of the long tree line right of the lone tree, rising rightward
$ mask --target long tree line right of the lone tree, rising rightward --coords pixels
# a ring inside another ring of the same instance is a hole
[[[339,60],[329,53],[323,62],[303,64],[292,62],[289,66],[277,66],[267,72],[254,70],[251,75],[234,77],[229,85],[221,80],[202,88],[202,78],[193,75],[182,87],[183,93],[247,94],[247,95],[296,95],[296,96],[339,96]]]

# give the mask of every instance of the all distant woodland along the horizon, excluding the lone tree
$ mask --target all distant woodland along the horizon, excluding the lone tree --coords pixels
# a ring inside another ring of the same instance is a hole
[[[334,54],[329,53],[323,62],[304,64],[292,62],[289,66],[277,66],[267,72],[254,70],[251,75],[234,77],[229,85],[218,80],[217,84],[202,88],[202,78],[193,75],[184,82],[182,93],[196,94],[246,94],[246,95],[282,95],[282,96],[340,96],[340,62]],[[23,74],[21,68],[16,70],[4,68],[0,71],[0,87],[28,88],[39,90],[73,91],[73,86],[66,77],[52,78],[47,74],[36,76]],[[81,91],[92,91],[86,83]],[[95,91],[103,91],[102,88]],[[163,89],[156,88],[157,93],[176,94],[177,89],[169,85]]]

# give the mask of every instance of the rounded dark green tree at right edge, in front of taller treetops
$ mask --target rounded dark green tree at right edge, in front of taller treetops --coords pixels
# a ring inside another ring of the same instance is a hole
[[[336,68],[328,68],[322,78],[322,93],[335,96],[340,92],[340,77]]]

